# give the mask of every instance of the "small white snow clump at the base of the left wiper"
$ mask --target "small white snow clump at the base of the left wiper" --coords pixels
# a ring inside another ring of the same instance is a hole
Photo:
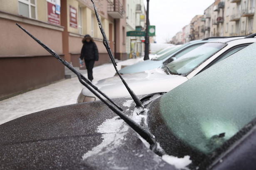
[[[174,165],[178,169],[186,169],[186,166],[192,162],[189,155],[184,156],[184,158],[178,158],[171,155],[163,155],[162,159],[167,163]]]

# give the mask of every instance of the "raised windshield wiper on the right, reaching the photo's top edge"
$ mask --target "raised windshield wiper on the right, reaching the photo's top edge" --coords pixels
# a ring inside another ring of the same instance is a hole
[[[119,75],[120,79],[122,80],[122,82],[124,83],[124,86],[127,88],[128,92],[130,93],[130,95],[132,96],[132,99],[134,100],[135,104],[137,105],[137,107],[142,107],[142,102],[139,100],[139,98],[134,94],[134,92],[132,91],[132,89],[129,87],[129,85],[126,83],[126,81],[122,78],[122,75],[120,75],[119,71],[117,70],[117,63],[116,61],[114,60],[114,56],[113,56],[113,53],[111,51],[111,48],[109,46],[109,42],[107,40],[107,36],[104,32],[104,29],[103,29],[103,26],[102,26],[102,23],[101,23],[101,20],[99,19],[99,15],[98,15],[98,12],[97,12],[97,9],[95,7],[95,4],[93,2],[93,0],[91,0],[92,3],[93,3],[93,7],[94,7],[94,11],[95,11],[95,15],[96,15],[96,18],[97,18],[97,21],[98,21],[98,24],[99,24],[99,29],[100,29],[100,32],[103,36],[103,44],[104,46],[106,47],[107,49],[107,53],[109,54],[109,57],[113,63],[113,66],[114,66],[114,69],[116,70],[117,74]]]

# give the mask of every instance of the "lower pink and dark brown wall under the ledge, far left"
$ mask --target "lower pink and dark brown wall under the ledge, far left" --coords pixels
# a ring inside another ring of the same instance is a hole
[[[62,27],[5,12],[0,12],[0,23],[0,99],[65,78],[64,66],[16,23],[60,56]]]

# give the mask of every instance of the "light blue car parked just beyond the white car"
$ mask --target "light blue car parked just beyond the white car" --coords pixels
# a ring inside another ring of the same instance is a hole
[[[145,70],[152,70],[155,68],[159,68],[162,66],[164,62],[171,62],[176,58],[179,58],[184,53],[187,53],[193,49],[195,49],[198,46],[203,45],[206,42],[209,42],[212,40],[195,40],[190,41],[186,44],[183,44],[182,46],[179,46],[178,48],[169,51],[168,53],[165,53],[162,56],[157,56],[156,58],[152,58],[151,60],[145,60],[127,67],[124,67],[119,70],[120,74],[129,74],[129,73],[139,73]]]

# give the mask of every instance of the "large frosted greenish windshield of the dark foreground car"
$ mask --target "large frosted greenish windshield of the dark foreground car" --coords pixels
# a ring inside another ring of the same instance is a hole
[[[171,133],[207,154],[255,119],[254,47],[229,56],[161,97],[159,112]]]

